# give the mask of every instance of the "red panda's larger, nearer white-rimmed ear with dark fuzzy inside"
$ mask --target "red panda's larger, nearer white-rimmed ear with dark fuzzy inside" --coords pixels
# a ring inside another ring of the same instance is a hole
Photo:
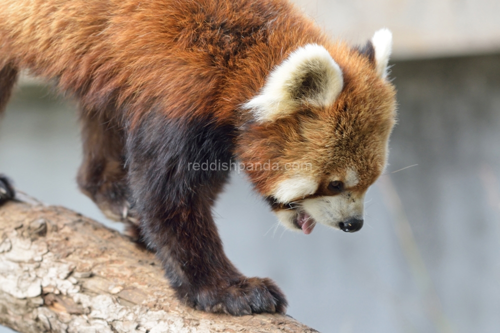
[[[329,106],[342,87],[342,71],[329,52],[307,44],[275,67],[260,93],[242,107],[258,121],[273,121],[293,113],[301,103]]]

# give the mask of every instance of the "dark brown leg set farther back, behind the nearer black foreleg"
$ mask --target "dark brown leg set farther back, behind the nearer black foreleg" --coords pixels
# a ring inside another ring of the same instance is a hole
[[[123,130],[104,112],[81,111],[83,162],[78,186],[107,218],[125,223],[126,234],[137,240],[137,216],[124,166]]]

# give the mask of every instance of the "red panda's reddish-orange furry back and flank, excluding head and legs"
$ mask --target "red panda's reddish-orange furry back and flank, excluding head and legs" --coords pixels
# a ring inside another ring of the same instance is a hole
[[[291,31],[297,15],[282,0],[3,0],[0,64],[14,60],[55,79],[93,108],[146,103],[172,116],[207,112],[228,77],[239,85],[229,87],[236,105],[247,91],[235,88],[258,88],[304,42]],[[276,45],[269,34],[278,35]]]

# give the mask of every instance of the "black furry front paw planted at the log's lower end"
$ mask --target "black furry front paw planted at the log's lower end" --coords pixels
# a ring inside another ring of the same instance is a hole
[[[233,316],[286,312],[286,298],[270,279],[243,278],[215,295],[202,294],[197,295],[195,307],[207,312]]]

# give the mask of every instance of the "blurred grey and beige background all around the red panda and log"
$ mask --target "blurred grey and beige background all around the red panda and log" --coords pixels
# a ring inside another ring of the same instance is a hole
[[[393,31],[388,174],[367,194],[361,231],[308,236],[278,226],[234,174],[214,209],[228,257],[274,279],[288,315],[322,333],[500,332],[500,2],[299,4],[354,44]],[[121,228],[77,190],[75,107],[24,78],[0,125],[0,172],[45,203]]]

